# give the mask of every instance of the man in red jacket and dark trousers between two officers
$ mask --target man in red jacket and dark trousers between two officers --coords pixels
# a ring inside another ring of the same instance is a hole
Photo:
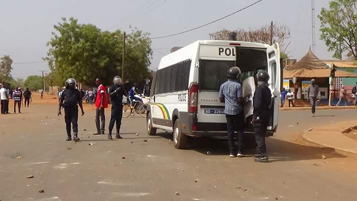
[[[104,127],[105,127],[105,114],[104,109],[108,108],[108,93],[107,88],[102,84],[99,78],[96,79],[96,84],[98,86],[97,91],[97,99],[95,102],[96,105],[96,127],[97,133],[95,134],[104,134]],[[99,117],[102,121],[100,125]]]

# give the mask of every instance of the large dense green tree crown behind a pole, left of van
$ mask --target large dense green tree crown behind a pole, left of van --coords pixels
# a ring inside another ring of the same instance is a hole
[[[56,33],[48,43],[48,61],[51,73],[48,81],[64,84],[69,77],[86,85],[94,85],[97,77],[111,84],[115,75],[121,75],[123,33],[101,31],[92,24],[79,24],[70,18],[55,25]],[[136,28],[127,35],[125,45],[125,80],[140,81],[148,76],[152,58],[148,33]]]

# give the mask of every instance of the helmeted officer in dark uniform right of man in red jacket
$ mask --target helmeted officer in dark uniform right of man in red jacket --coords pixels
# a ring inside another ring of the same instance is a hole
[[[109,134],[108,139],[113,139],[112,131],[114,128],[114,123],[117,122],[117,139],[121,139],[120,136],[120,125],[121,125],[121,118],[122,118],[122,96],[127,96],[127,92],[124,86],[121,83],[121,78],[119,76],[115,76],[113,78],[114,85],[109,89],[110,100],[112,103],[112,114],[111,120],[109,123]]]

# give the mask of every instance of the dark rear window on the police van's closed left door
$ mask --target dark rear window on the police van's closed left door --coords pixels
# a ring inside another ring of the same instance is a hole
[[[199,89],[219,91],[220,86],[227,81],[227,71],[235,66],[235,61],[201,60],[199,72]]]

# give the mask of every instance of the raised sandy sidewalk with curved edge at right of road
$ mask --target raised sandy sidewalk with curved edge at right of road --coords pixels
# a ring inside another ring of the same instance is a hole
[[[342,132],[357,126],[357,121],[340,122],[323,127],[312,128],[302,133],[302,138],[335,150],[357,153],[357,140]]]

